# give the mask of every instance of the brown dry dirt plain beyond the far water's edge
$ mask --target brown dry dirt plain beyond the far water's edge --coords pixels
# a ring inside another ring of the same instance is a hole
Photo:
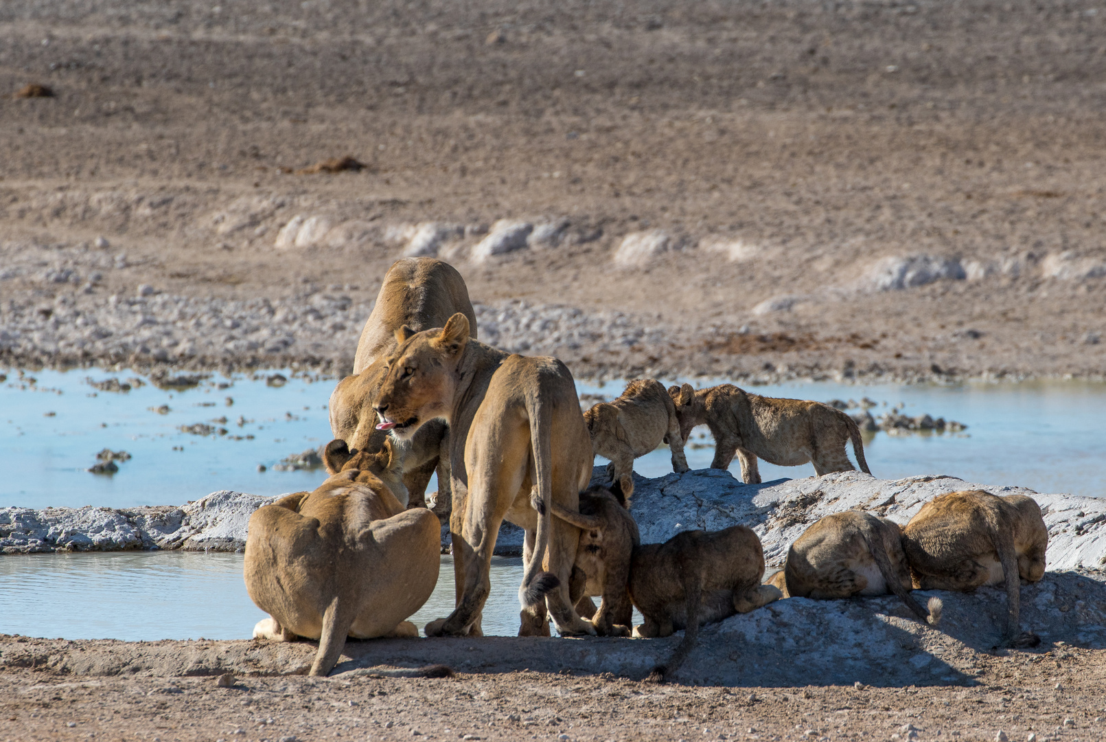
[[[478,302],[659,330],[534,330],[580,375],[1103,375],[1098,0],[8,0],[0,93],[28,83],[54,96],[0,102],[0,332],[142,285],[364,306],[434,223]],[[564,229],[473,260],[498,219]],[[341,371],[357,337],[117,357],[32,324],[0,360]]]

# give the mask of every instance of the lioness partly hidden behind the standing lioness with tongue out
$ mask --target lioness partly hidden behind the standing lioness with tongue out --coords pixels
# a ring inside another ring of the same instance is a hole
[[[477,337],[469,291],[456,268],[436,258],[404,258],[393,264],[361,331],[353,375],[338,382],[331,394],[331,434],[335,439],[345,441],[351,451],[380,450],[387,433],[376,430],[373,404],[384,380],[384,358],[396,349],[396,331],[404,326],[416,331],[441,327],[456,312],[469,319],[472,337]],[[435,421],[403,443],[404,484],[408,494],[396,492],[396,496],[405,505],[425,506],[426,486],[438,471],[438,509],[448,508],[448,461],[442,463],[440,458],[447,433],[446,424]],[[331,474],[341,467],[341,463],[332,467],[326,462]]]

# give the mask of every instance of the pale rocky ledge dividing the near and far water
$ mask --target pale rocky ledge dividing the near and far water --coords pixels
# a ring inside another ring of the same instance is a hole
[[[596,467],[594,481],[602,481]],[[1106,567],[1106,498],[1039,494],[1023,487],[988,487],[941,475],[877,480],[860,472],[741,484],[727,471],[698,470],[657,478],[635,475],[634,517],[644,543],[664,542],[690,528],[751,527],[769,565],[781,565],[787,547],[818,518],[848,509],[878,513],[906,523],[921,505],[946,492],[985,489],[1031,495],[1048,526],[1047,568]],[[35,511],[0,508],[0,552],[115,552],[244,548],[250,515],[272,497],[215,492],[180,507],[81,507]],[[518,554],[522,532],[504,524],[495,552]],[[442,546],[449,535],[444,529]]]

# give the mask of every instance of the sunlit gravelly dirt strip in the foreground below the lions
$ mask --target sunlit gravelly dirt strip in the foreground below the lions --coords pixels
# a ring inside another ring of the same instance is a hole
[[[11,655],[18,641],[4,637],[0,649]],[[107,641],[30,641],[52,645],[46,651],[55,653],[81,653],[86,662],[113,649],[134,649]],[[156,643],[163,649],[176,643],[187,652],[197,642]],[[248,642],[216,643],[232,650]],[[444,659],[458,651],[445,650]],[[215,677],[77,676],[9,664],[0,673],[0,740],[990,742],[1106,736],[1106,652],[1072,647],[1002,651],[979,655],[975,666],[974,680],[935,687],[658,687],[613,676],[519,670],[439,680],[246,676],[219,688]]]

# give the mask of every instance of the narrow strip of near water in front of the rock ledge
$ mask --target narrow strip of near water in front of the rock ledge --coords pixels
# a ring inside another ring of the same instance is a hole
[[[522,559],[493,557],[486,635],[519,632]],[[452,557],[410,620],[453,609]],[[65,639],[249,639],[265,618],[246,591],[241,554],[114,552],[0,557],[0,633]]]

